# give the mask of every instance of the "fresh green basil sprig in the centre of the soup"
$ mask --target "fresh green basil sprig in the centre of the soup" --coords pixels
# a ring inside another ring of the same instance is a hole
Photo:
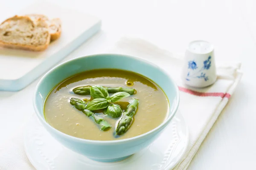
[[[117,92],[109,97],[108,91],[101,85],[92,86],[90,88],[90,95],[93,100],[88,103],[86,109],[90,111],[104,109],[104,114],[108,114],[114,118],[121,116],[122,109],[119,105],[113,104],[112,102],[117,102],[130,96],[130,94],[126,92]]]

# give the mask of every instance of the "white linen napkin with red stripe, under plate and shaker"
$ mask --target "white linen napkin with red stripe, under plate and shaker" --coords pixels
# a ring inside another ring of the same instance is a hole
[[[229,65],[220,66],[217,69],[218,80],[214,85],[204,89],[193,89],[184,86],[181,82],[182,57],[160,49],[150,42],[137,38],[122,38],[111,52],[133,55],[154,62],[165,69],[179,85],[179,109],[189,126],[189,146],[175,170],[186,170],[218,115],[227,104],[230,95],[236,89],[242,76],[238,71],[240,64],[229,63]],[[24,152],[22,130],[6,145],[0,146],[0,170],[35,169]],[[166,169],[163,167],[163,170]]]

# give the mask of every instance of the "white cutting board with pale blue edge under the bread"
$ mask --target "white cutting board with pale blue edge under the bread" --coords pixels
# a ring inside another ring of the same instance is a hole
[[[50,19],[60,18],[61,37],[41,52],[0,48],[0,91],[18,91],[26,87],[101,28],[101,20],[94,16],[49,3],[35,3],[17,14],[32,13],[45,14]]]

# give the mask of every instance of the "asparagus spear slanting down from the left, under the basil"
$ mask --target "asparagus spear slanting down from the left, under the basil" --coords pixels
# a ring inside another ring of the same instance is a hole
[[[94,119],[94,122],[99,124],[99,127],[101,130],[105,131],[105,130],[109,130],[111,128],[111,125],[108,124],[108,122],[106,122],[102,117],[96,115],[92,111],[85,109],[86,105],[87,105],[86,102],[84,102],[80,99],[71,98],[70,104],[75,106],[75,108],[77,108],[79,111],[82,111],[86,116],[88,116],[88,117],[91,116]]]

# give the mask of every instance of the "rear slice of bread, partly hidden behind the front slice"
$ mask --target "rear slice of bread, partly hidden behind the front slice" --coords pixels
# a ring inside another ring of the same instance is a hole
[[[49,20],[48,17],[43,14],[28,14],[26,16],[30,17],[32,20],[38,20],[39,18],[45,20],[49,25],[51,41],[57,40],[61,36],[61,20],[59,18]]]

